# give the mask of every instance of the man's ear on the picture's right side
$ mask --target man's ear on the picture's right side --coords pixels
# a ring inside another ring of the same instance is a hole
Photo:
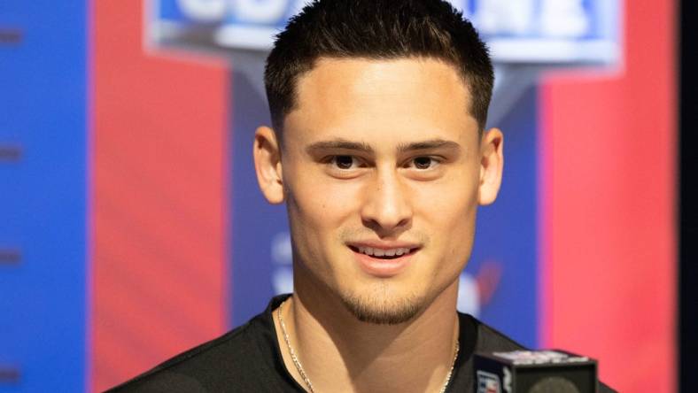
[[[492,128],[480,140],[480,204],[492,204],[497,199],[503,169],[504,135],[499,128]]]

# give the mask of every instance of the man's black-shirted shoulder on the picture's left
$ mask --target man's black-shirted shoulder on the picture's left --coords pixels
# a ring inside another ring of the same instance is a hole
[[[231,381],[244,384],[250,368],[263,369],[256,321],[182,352],[110,392],[204,392]],[[244,386],[244,385],[243,385]],[[239,387],[239,386],[238,386]]]

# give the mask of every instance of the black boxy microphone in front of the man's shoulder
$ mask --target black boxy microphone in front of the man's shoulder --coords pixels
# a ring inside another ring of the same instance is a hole
[[[595,393],[597,361],[560,350],[478,352],[477,393]]]

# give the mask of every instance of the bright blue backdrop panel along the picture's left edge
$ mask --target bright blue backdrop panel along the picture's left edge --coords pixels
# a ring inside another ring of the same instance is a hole
[[[86,11],[0,2],[3,392],[85,389]]]

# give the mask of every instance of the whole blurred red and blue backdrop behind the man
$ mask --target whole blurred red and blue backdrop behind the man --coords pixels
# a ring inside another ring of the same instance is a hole
[[[304,3],[0,2],[0,392],[107,389],[292,290],[251,153],[271,35]],[[459,309],[619,391],[693,391],[694,5],[451,3],[506,135]]]

